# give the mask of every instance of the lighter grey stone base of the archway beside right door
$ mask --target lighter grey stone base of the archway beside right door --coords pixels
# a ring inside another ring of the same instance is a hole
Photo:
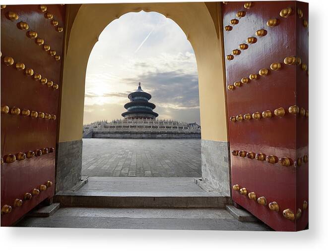
[[[201,140],[201,176],[222,196],[230,196],[229,142]]]

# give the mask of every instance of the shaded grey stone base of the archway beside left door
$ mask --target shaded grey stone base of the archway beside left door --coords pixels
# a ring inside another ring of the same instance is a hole
[[[56,151],[56,193],[81,180],[82,140],[61,142]]]

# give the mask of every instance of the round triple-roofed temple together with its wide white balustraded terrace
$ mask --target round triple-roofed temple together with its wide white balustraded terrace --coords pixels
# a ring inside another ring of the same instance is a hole
[[[130,102],[124,105],[124,119],[96,121],[83,125],[83,138],[112,139],[188,139],[200,138],[200,126],[170,119],[156,119],[156,105],[149,102],[151,95],[138,89],[128,95]]]

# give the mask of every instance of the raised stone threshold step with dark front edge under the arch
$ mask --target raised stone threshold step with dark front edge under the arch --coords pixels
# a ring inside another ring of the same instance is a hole
[[[79,190],[59,192],[55,201],[75,207],[216,207],[229,197],[206,192],[194,178],[89,177]]]

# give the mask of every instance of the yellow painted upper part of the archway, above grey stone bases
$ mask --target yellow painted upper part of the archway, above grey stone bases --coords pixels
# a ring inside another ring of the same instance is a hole
[[[100,33],[123,14],[140,10],[159,12],[185,32],[197,59],[201,138],[227,141],[220,3],[171,2],[66,5],[59,142],[82,138],[85,72]]]

